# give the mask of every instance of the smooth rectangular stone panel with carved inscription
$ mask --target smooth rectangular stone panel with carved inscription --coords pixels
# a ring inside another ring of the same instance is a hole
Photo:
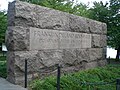
[[[30,27],[30,50],[91,48],[91,34]]]

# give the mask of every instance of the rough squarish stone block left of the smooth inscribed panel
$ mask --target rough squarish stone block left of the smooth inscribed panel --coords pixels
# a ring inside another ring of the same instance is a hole
[[[8,27],[6,38],[8,50],[19,51],[29,49],[29,28],[21,26]]]

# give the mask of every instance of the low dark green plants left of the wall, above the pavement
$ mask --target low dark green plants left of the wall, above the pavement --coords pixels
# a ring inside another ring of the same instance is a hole
[[[6,57],[0,56],[0,77],[6,78],[7,77],[7,70],[6,70]]]

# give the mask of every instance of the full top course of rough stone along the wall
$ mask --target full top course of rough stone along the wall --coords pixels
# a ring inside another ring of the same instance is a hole
[[[106,34],[107,30],[104,23],[20,1],[9,5],[8,16],[10,17],[9,26],[32,26],[41,29],[98,34]]]

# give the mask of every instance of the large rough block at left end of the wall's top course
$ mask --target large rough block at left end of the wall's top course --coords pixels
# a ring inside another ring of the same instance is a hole
[[[70,30],[69,14],[67,13],[20,1],[16,1],[10,6],[12,7],[13,5],[15,6],[15,21],[13,22],[14,24],[10,23],[9,25]],[[9,9],[11,10],[12,8]],[[13,12],[10,12],[9,16],[11,13]]]

